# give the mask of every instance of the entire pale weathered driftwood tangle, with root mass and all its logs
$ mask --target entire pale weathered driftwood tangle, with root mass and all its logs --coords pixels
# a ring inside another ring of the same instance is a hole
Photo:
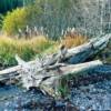
[[[103,65],[100,60],[85,61],[103,50],[110,39],[111,34],[105,34],[72,49],[62,47],[59,52],[52,56],[30,62],[24,62],[16,56],[19,65],[0,71],[0,81],[21,78],[24,88],[39,87],[49,94],[56,95],[58,94],[56,91],[59,85],[58,81],[61,77],[75,75]]]

